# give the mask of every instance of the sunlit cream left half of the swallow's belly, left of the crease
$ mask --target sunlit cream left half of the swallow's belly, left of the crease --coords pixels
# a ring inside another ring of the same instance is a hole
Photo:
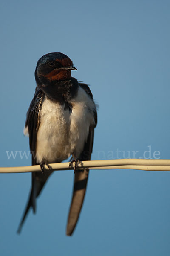
[[[48,163],[61,162],[70,156],[68,143],[69,111],[45,98],[37,133],[36,159]]]

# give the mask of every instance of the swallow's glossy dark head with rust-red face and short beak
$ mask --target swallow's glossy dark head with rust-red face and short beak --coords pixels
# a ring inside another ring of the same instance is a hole
[[[37,83],[44,81],[59,81],[71,78],[71,70],[77,70],[67,55],[61,52],[51,52],[43,55],[37,62],[35,79]]]

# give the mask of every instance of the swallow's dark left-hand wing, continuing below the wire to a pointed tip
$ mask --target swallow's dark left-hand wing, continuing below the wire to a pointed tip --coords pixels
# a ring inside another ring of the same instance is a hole
[[[39,88],[36,88],[34,98],[31,101],[30,107],[27,112],[26,118],[26,127],[29,131],[29,144],[32,154],[32,165],[36,165],[36,140],[37,140],[37,131],[40,125],[40,110],[42,101],[45,97],[45,94]],[[48,173],[49,172],[49,173]],[[46,180],[48,179],[51,171],[45,171],[45,175],[41,172],[32,172],[32,187],[29,196],[29,200],[23,213],[23,218],[21,219],[20,225],[18,227],[17,233],[21,232],[21,228],[25,221],[25,218],[28,214],[30,207],[33,208],[35,213],[36,211],[36,198],[40,194],[42,187],[44,186]]]

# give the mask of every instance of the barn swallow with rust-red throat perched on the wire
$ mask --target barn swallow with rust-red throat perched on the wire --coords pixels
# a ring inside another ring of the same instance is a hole
[[[71,70],[77,68],[61,52],[47,53],[37,62],[37,86],[24,134],[29,136],[32,165],[39,164],[40,171],[31,173],[31,191],[17,233],[21,232],[30,208],[36,212],[36,199],[53,172],[50,163],[60,163],[69,157],[69,167],[74,163],[74,186],[66,235],[72,235],[79,218],[89,170],[79,170],[77,165],[91,160],[97,111],[89,86],[72,77]]]

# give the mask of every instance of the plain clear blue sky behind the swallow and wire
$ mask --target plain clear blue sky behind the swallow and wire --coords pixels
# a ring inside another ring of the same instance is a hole
[[[23,127],[34,69],[48,52],[68,55],[78,69],[72,75],[99,103],[93,160],[128,151],[170,158],[170,1],[6,0],[0,12],[0,166],[31,164],[19,154],[8,160],[6,151],[29,150]],[[72,237],[72,171],[51,176],[37,214],[16,234],[30,184],[30,173],[0,175],[1,256],[170,255],[169,172],[91,171]]]

